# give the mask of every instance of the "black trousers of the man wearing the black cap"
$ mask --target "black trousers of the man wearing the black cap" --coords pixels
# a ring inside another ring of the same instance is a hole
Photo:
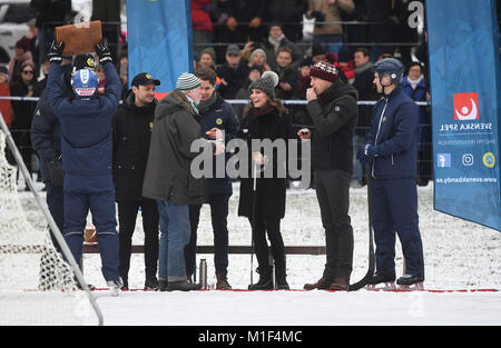
[[[145,272],[146,278],[154,278],[158,264],[158,210],[157,202],[153,199],[119,201],[119,272],[125,280],[128,279],[130,268],[130,253],[132,250],[132,233],[136,228],[137,212],[141,208],[143,229],[145,230]]]

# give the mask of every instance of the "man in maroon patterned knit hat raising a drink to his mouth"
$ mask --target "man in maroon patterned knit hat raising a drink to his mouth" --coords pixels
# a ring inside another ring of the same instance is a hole
[[[358,93],[338,78],[337,69],[331,62],[317,62],[310,76],[312,88],[306,91],[306,111],[314,128],[313,135],[299,132],[299,136],[312,139],[312,166],[325,228],[327,262],[322,278],[304,288],[347,291],[353,264],[348,209]]]

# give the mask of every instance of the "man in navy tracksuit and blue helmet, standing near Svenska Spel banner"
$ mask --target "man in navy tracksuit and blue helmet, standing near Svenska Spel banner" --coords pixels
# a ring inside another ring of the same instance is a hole
[[[370,199],[376,275],[371,284],[395,280],[395,232],[402,243],[405,275],[396,284],[424,280],[424,261],[418,217],[416,127],[419,110],[402,90],[402,63],[393,58],[375,66],[374,83],[382,95],[374,108],[366,143],[357,158],[370,169]]]

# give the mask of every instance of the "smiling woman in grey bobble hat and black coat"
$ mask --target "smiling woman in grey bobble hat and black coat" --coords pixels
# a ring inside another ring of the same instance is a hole
[[[267,71],[262,78],[249,84],[250,103],[244,111],[242,129],[246,132],[249,153],[252,140],[283,139],[284,145],[291,138],[291,119],[288,110],[275,98],[278,77]],[[285,147],[284,147],[285,148]],[[249,176],[240,180],[238,216],[247,217],[253,229],[254,250],[256,252],[259,281],[249,285],[249,289],[273,289],[272,267],[268,265],[268,245],[275,260],[276,285],[279,289],[288,289],[286,281],[285,250],[281,233],[281,219],[285,215],[286,156],[277,156],[274,148],[273,159],[267,153],[255,151],[249,155]],[[286,153],[285,153],[286,155]],[[272,167],[269,167],[272,166]],[[272,169],[267,171],[267,169]],[[267,173],[273,171],[273,176]],[[256,179],[254,191],[253,172],[261,172]],[[254,201],[255,200],[255,201]]]

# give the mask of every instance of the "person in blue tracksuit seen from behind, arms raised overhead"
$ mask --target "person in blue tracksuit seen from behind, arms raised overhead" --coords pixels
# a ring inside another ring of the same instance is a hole
[[[49,102],[61,123],[65,240],[78,262],[90,210],[98,236],[102,275],[112,295],[118,295],[121,280],[111,171],[111,119],[120,100],[121,83],[109,49],[96,46],[99,62],[105,69],[105,93],[97,95],[96,73],[80,69],[71,77],[73,96],[68,97],[61,80],[62,49],[63,43],[52,43],[47,89]]]

